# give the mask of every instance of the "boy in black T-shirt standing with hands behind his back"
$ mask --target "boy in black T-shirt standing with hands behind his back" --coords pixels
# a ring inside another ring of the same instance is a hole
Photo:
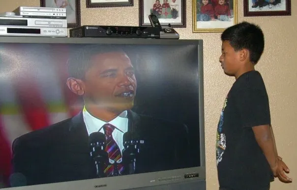
[[[254,68],[264,50],[264,34],[242,22],[226,29],[221,40],[221,66],[236,81],[217,129],[220,190],[269,190],[273,175],[290,183],[284,173],[289,168],[277,155],[265,84]]]

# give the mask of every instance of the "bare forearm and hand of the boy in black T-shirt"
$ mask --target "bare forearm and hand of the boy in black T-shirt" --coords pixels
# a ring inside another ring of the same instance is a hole
[[[273,175],[278,177],[281,181],[285,183],[292,182],[285,173],[284,170],[288,173],[289,168],[287,165],[282,161],[282,158],[278,157],[277,149],[274,140],[274,134],[272,131],[272,127],[270,125],[263,125],[263,126],[255,126],[252,127],[255,138],[262,149],[267,161],[271,167]]]

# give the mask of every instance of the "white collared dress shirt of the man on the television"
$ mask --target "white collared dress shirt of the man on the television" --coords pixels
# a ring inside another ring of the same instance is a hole
[[[97,131],[102,132],[104,134],[103,126],[107,124],[106,122],[92,116],[86,108],[84,108],[83,110],[83,116],[89,135],[92,132]],[[128,131],[127,111],[123,111],[118,117],[108,122],[108,124],[111,124],[116,127],[112,135],[119,146],[120,152],[122,153],[122,150],[124,149],[123,134]]]

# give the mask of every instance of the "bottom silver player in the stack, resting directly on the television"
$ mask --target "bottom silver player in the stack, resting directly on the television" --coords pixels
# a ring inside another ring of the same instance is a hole
[[[0,26],[2,36],[67,37],[67,28]]]

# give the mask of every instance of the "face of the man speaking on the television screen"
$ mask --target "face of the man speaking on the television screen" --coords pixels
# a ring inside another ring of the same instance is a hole
[[[121,52],[97,54],[84,80],[86,103],[122,112],[133,107],[136,78],[129,57]]]

